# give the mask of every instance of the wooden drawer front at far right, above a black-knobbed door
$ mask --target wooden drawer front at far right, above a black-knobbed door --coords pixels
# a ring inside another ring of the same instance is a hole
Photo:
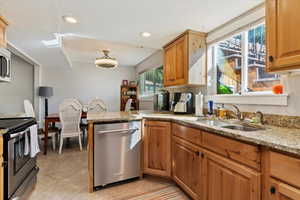
[[[270,174],[286,183],[300,187],[300,159],[270,152]]]

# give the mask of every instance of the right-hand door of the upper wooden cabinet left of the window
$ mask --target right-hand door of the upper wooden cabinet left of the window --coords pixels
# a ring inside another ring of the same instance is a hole
[[[188,82],[187,35],[176,42],[176,63],[174,85],[184,85]]]

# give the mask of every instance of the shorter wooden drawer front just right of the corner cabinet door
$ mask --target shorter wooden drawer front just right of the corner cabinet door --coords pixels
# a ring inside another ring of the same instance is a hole
[[[172,132],[173,135],[180,137],[188,142],[191,142],[196,145],[202,144],[202,134],[201,131],[198,129],[173,123]]]

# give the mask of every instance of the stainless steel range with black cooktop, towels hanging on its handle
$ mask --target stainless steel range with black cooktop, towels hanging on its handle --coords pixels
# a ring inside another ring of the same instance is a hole
[[[0,119],[4,135],[4,199],[22,200],[36,184],[36,157],[25,155],[25,135],[36,124],[33,118]],[[30,141],[30,138],[29,138]]]

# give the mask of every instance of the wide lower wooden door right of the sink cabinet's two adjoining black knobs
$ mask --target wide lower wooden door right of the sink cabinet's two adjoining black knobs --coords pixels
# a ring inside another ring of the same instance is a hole
[[[260,174],[212,153],[204,158],[206,200],[260,200]]]

